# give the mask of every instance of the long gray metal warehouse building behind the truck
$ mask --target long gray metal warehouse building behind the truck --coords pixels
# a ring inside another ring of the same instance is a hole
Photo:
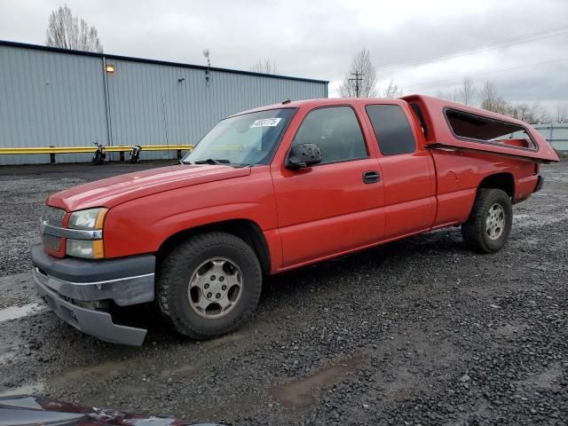
[[[0,41],[0,147],[194,144],[227,115],[312,98],[327,98],[327,82]],[[45,162],[49,154],[0,155],[0,164]]]

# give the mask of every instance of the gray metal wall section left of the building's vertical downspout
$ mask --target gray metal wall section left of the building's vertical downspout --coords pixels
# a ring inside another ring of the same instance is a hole
[[[0,146],[106,144],[99,58],[0,46]],[[81,162],[89,154],[58,154]],[[49,155],[0,155],[0,164],[49,162]]]

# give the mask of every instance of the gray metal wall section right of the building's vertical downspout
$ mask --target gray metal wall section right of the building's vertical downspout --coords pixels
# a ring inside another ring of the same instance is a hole
[[[114,145],[194,144],[227,115],[288,98],[325,97],[321,83],[211,71],[207,84],[201,69],[127,60],[108,63],[114,65],[114,74],[108,75]]]

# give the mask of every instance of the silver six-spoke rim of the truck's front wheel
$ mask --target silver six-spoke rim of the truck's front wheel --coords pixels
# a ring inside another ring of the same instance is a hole
[[[244,280],[241,268],[226,257],[211,257],[192,274],[187,299],[193,312],[216,319],[233,311],[241,300]]]

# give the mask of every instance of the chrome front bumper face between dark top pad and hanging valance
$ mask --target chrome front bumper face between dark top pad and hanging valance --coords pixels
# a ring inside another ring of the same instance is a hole
[[[154,300],[154,273],[135,277],[94,282],[71,282],[43,274],[38,268],[32,271],[34,280],[51,288],[59,295],[83,302],[112,299],[115,304],[128,306]]]

